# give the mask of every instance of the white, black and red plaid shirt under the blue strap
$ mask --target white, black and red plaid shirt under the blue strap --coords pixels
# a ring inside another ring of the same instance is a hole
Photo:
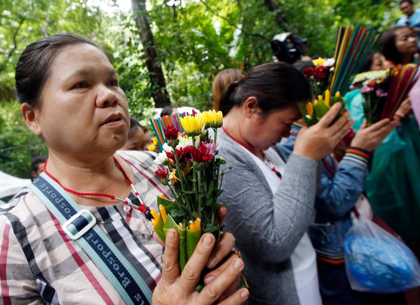
[[[157,195],[166,195],[168,189],[154,173],[155,157],[147,152],[118,154],[130,165],[144,203],[157,210]],[[128,200],[140,205],[133,193]],[[92,212],[97,225],[154,289],[161,276],[163,247],[153,239],[152,224],[144,214],[131,208],[126,212],[123,204],[81,208]],[[0,240],[1,304],[124,304],[100,269],[76,241],[67,238],[58,220],[29,189],[22,189],[0,207]]]

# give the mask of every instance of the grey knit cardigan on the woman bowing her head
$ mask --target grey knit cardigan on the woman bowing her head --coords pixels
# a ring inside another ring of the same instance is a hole
[[[217,140],[218,156],[233,166],[220,201],[230,204],[224,231],[235,236],[244,259],[246,304],[299,305],[290,257],[312,219],[318,162],[292,154],[273,195],[252,157],[221,128]]]

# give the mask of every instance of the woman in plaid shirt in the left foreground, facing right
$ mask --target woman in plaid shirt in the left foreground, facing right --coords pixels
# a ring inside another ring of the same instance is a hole
[[[113,200],[113,196],[125,198],[141,206],[127,183],[133,181],[147,207],[157,209],[156,197],[167,189],[154,173],[157,166],[152,155],[116,153],[127,139],[127,100],[97,44],[73,34],[30,44],[16,66],[16,92],[26,126],[48,146],[46,172],[92,213],[153,291],[153,305],[210,305],[216,300],[236,305],[247,299],[247,289],[235,292],[244,264],[237,256],[228,256],[234,245],[232,235],[224,234],[215,249],[213,235],[203,235],[180,275],[176,230],[168,232],[163,254],[163,246],[152,237],[147,213]],[[1,207],[0,236],[3,304],[124,303],[95,262],[63,232],[58,219],[30,189],[23,189]],[[218,269],[205,276],[202,292],[196,292],[202,269],[213,268],[226,256]]]

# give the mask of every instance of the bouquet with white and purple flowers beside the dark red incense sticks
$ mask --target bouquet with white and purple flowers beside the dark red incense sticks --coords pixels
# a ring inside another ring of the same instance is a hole
[[[362,72],[356,75],[353,80],[352,89],[360,89],[363,95],[363,112],[370,126],[381,119],[383,106],[387,96],[384,90],[390,70]]]

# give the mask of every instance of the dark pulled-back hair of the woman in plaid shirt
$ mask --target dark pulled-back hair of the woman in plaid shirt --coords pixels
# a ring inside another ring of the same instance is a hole
[[[92,40],[71,33],[39,39],[24,49],[16,65],[15,74],[19,103],[28,103],[32,109],[40,106],[41,92],[50,76],[55,56],[64,47],[76,44],[91,44],[102,50]]]

